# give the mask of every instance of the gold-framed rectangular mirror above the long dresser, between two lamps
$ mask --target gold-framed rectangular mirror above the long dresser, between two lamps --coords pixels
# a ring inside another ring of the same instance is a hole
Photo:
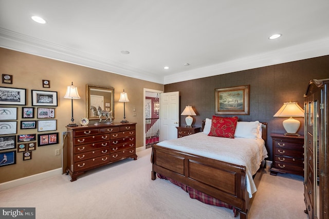
[[[100,106],[103,111],[111,113],[111,118],[114,119],[114,88],[87,84],[86,91],[87,118],[99,119],[97,109]]]

